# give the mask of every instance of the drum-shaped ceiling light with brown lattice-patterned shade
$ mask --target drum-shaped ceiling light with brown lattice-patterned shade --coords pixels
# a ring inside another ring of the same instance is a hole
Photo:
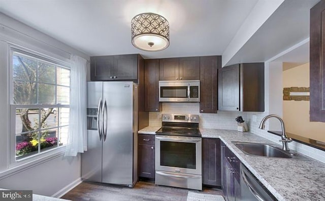
[[[169,46],[169,23],[161,15],[141,13],[131,20],[132,45],[144,51],[165,50]]]

